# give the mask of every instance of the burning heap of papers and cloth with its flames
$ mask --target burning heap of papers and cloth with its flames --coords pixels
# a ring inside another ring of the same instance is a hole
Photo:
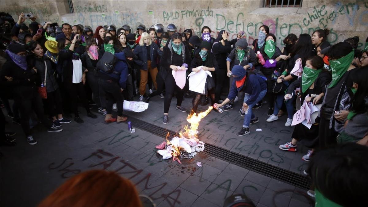
[[[198,139],[198,126],[199,122],[208,115],[208,113],[213,109],[212,106],[209,106],[207,110],[204,112],[193,113],[191,115],[188,115],[187,122],[190,123],[190,127],[188,128],[188,125],[185,125],[184,132],[179,132],[179,137],[174,137],[171,141],[168,140],[170,137],[170,133],[167,133],[166,135],[166,143],[163,142],[159,146],[156,146],[156,148],[160,149],[158,150],[158,153],[165,157],[166,159],[173,157],[173,161],[178,161],[180,164],[179,156],[181,155],[181,151],[185,151],[188,153],[196,153],[196,151],[203,151],[204,150],[204,143],[199,141]],[[163,148],[165,148],[163,150]],[[194,150],[194,151],[193,151]],[[171,153],[171,155],[168,155],[168,151]],[[195,154],[194,154],[195,155]],[[193,156],[194,156],[193,155]]]

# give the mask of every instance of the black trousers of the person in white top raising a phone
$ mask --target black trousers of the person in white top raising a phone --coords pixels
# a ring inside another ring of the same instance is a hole
[[[74,115],[77,117],[79,116],[78,112],[78,97],[81,99],[82,104],[84,108],[86,109],[87,113],[90,113],[91,110],[89,110],[89,105],[87,101],[86,92],[84,91],[84,85],[83,83],[72,83],[72,86],[70,89],[67,90],[67,93],[70,97],[71,101],[71,110],[74,113]]]

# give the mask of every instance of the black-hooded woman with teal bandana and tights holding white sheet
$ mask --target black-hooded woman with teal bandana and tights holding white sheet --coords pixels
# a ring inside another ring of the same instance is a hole
[[[196,73],[198,73],[200,70],[210,71],[212,74],[216,70],[218,70],[217,62],[210,50],[209,42],[203,41],[201,43],[200,50],[195,53],[194,59],[190,64],[189,70],[190,70],[189,72],[194,71]],[[210,96],[211,105],[215,103],[215,81],[211,76],[207,76],[204,92],[202,94],[197,92],[195,97],[193,98],[192,100],[193,108],[191,114],[197,112],[198,105],[201,102],[201,97],[203,95]]]

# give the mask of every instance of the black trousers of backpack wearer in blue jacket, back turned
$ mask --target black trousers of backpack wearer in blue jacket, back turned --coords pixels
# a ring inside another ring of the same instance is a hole
[[[123,116],[123,94],[120,91],[120,85],[113,80],[104,80],[98,78],[99,92],[106,94],[107,104],[104,103],[106,99],[102,99],[102,105],[106,105],[107,114],[111,114],[113,104],[116,101],[117,115]]]

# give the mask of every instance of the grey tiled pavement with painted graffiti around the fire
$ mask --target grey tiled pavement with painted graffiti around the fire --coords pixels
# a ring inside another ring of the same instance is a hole
[[[175,110],[175,104],[174,98],[167,125],[162,124],[163,99],[159,97],[151,99],[145,112],[126,113],[179,131],[187,124],[187,115]],[[186,98],[183,106],[190,109],[191,99]],[[293,127],[284,127],[286,115],[266,123],[268,108],[255,109],[260,122],[251,125],[250,134],[238,137],[236,133],[243,120],[239,107],[237,104],[229,112],[209,113],[199,125],[200,140],[293,172],[302,173],[307,168],[308,163],[301,160],[307,151],[302,144],[297,152],[278,148],[290,141],[293,131]],[[204,109],[201,106],[198,110]],[[84,124],[64,124],[60,133],[47,133],[39,124],[34,129],[38,141],[34,146],[26,143],[20,126],[8,125],[9,130],[18,131],[18,144],[0,149],[4,154],[0,159],[0,206],[36,206],[68,177],[89,169],[117,171],[131,179],[142,194],[151,196],[158,207],[222,206],[224,199],[233,193],[246,194],[258,207],[312,206],[305,197],[305,189],[204,153],[182,160],[181,165],[163,160],[154,148],[163,141],[162,137],[140,129],[131,134],[126,123],[105,124],[101,115],[98,119],[82,118]],[[202,167],[197,162],[202,162]]]

